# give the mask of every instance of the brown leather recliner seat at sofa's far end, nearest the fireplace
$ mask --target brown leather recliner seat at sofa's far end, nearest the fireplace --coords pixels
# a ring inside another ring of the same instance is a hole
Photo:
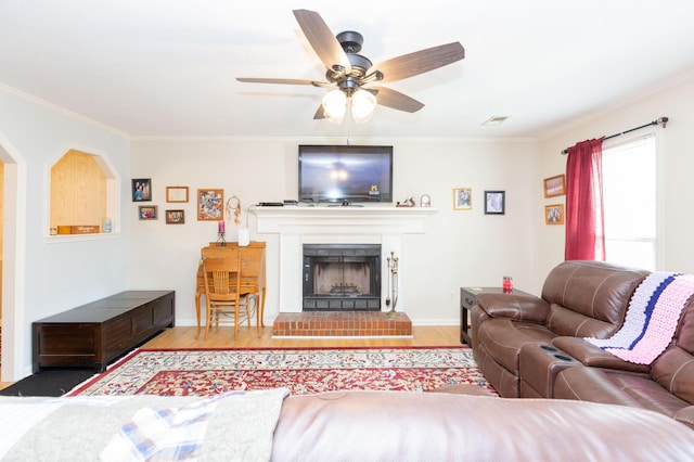
[[[548,352],[564,356],[552,346],[557,337],[609,337],[621,326],[629,300],[647,274],[603,261],[564,261],[548,274],[541,297],[479,294],[471,318],[473,352],[483,374],[501,396],[520,397],[524,349],[535,380],[524,385],[530,390],[527,396],[550,397],[538,388],[551,389],[558,370],[542,372],[537,348],[555,348]]]

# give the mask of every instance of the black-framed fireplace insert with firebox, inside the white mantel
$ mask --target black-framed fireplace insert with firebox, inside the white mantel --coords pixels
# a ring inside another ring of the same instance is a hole
[[[304,244],[304,311],[381,311],[381,244]]]

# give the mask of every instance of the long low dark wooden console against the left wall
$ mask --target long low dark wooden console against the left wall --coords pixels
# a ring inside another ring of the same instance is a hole
[[[44,367],[94,367],[128,352],[176,318],[174,291],[127,291],[31,324],[34,373]]]

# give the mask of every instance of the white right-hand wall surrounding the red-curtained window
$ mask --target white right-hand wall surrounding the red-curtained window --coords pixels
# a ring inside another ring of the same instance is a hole
[[[619,133],[661,116],[670,118],[667,127],[659,133],[663,140],[660,154],[664,156],[664,171],[659,172],[664,233],[659,239],[664,252],[658,270],[694,272],[694,215],[690,213],[694,171],[693,101],[694,75],[689,75],[677,85],[577,124],[540,143],[540,174],[542,178],[547,178],[565,171],[566,156],[560,152],[579,141]],[[543,201],[549,203],[551,200]],[[564,202],[564,197],[561,197],[561,202]],[[543,242],[540,273],[547,274],[564,259],[564,227],[540,227],[539,236]]]

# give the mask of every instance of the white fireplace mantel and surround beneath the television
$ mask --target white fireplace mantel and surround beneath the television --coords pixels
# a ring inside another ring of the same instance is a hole
[[[426,219],[437,210],[427,207],[377,206],[286,206],[253,207],[259,234],[280,234],[280,311],[301,311],[301,266],[304,244],[381,244],[381,260],[399,258],[400,286],[407,284],[407,258],[402,236],[426,232]],[[388,271],[384,265],[382,281]],[[387,294],[382,290],[382,309]],[[398,295],[398,311],[407,300]]]

